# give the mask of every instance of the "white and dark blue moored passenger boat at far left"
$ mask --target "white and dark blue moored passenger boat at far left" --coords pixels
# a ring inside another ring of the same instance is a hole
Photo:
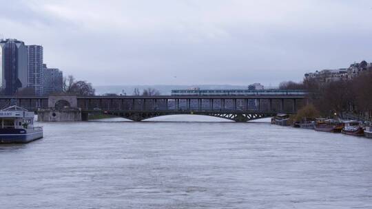
[[[34,126],[34,112],[16,105],[0,111],[0,144],[28,143],[43,137],[43,128]]]

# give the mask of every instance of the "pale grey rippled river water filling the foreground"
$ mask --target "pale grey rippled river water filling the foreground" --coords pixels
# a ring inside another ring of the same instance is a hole
[[[189,117],[40,123],[0,145],[0,208],[372,208],[372,140]]]

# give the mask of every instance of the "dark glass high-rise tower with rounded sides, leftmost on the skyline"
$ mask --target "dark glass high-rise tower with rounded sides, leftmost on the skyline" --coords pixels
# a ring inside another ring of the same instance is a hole
[[[6,95],[28,86],[28,56],[25,43],[17,39],[0,40],[1,87]]]

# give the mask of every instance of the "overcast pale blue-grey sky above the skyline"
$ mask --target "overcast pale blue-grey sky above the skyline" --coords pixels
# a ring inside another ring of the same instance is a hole
[[[0,3],[0,34],[94,85],[277,85],[372,62],[370,0]]]

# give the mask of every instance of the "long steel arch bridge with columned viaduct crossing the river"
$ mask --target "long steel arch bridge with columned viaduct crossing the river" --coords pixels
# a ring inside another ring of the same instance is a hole
[[[236,122],[267,118],[277,113],[293,114],[307,104],[306,94],[250,95],[250,96],[49,96],[0,97],[1,107],[11,100],[25,109],[55,108],[67,104],[81,110],[87,120],[89,114],[116,115],[141,121],[162,115],[209,115]],[[61,102],[63,101],[63,102]]]

